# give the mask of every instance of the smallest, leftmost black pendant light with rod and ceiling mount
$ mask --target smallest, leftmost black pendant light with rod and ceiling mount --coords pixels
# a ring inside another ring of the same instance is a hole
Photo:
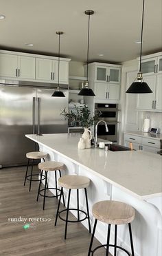
[[[56,34],[58,34],[58,87],[52,97],[65,97],[65,94],[60,91],[60,34],[63,34],[63,32],[58,31]]]

